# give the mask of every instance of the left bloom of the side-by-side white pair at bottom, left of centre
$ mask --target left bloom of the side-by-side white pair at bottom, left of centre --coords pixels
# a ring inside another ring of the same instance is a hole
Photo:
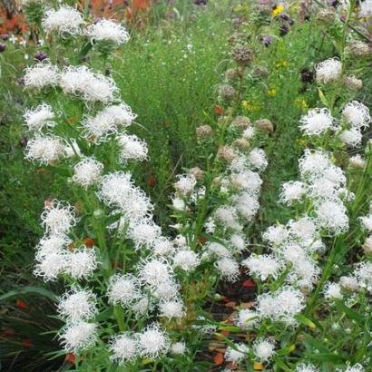
[[[122,365],[138,357],[138,340],[131,332],[123,332],[111,339],[109,350],[110,358]]]

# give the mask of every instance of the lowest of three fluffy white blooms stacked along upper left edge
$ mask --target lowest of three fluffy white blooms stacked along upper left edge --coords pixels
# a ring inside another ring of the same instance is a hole
[[[37,135],[27,142],[24,158],[48,165],[64,159],[65,155],[64,140],[62,138],[52,135]]]

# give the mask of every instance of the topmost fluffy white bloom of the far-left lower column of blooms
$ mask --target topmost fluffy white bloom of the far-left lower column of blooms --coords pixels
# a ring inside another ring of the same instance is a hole
[[[51,235],[63,235],[76,223],[73,207],[55,199],[46,203],[41,218],[45,231]]]

